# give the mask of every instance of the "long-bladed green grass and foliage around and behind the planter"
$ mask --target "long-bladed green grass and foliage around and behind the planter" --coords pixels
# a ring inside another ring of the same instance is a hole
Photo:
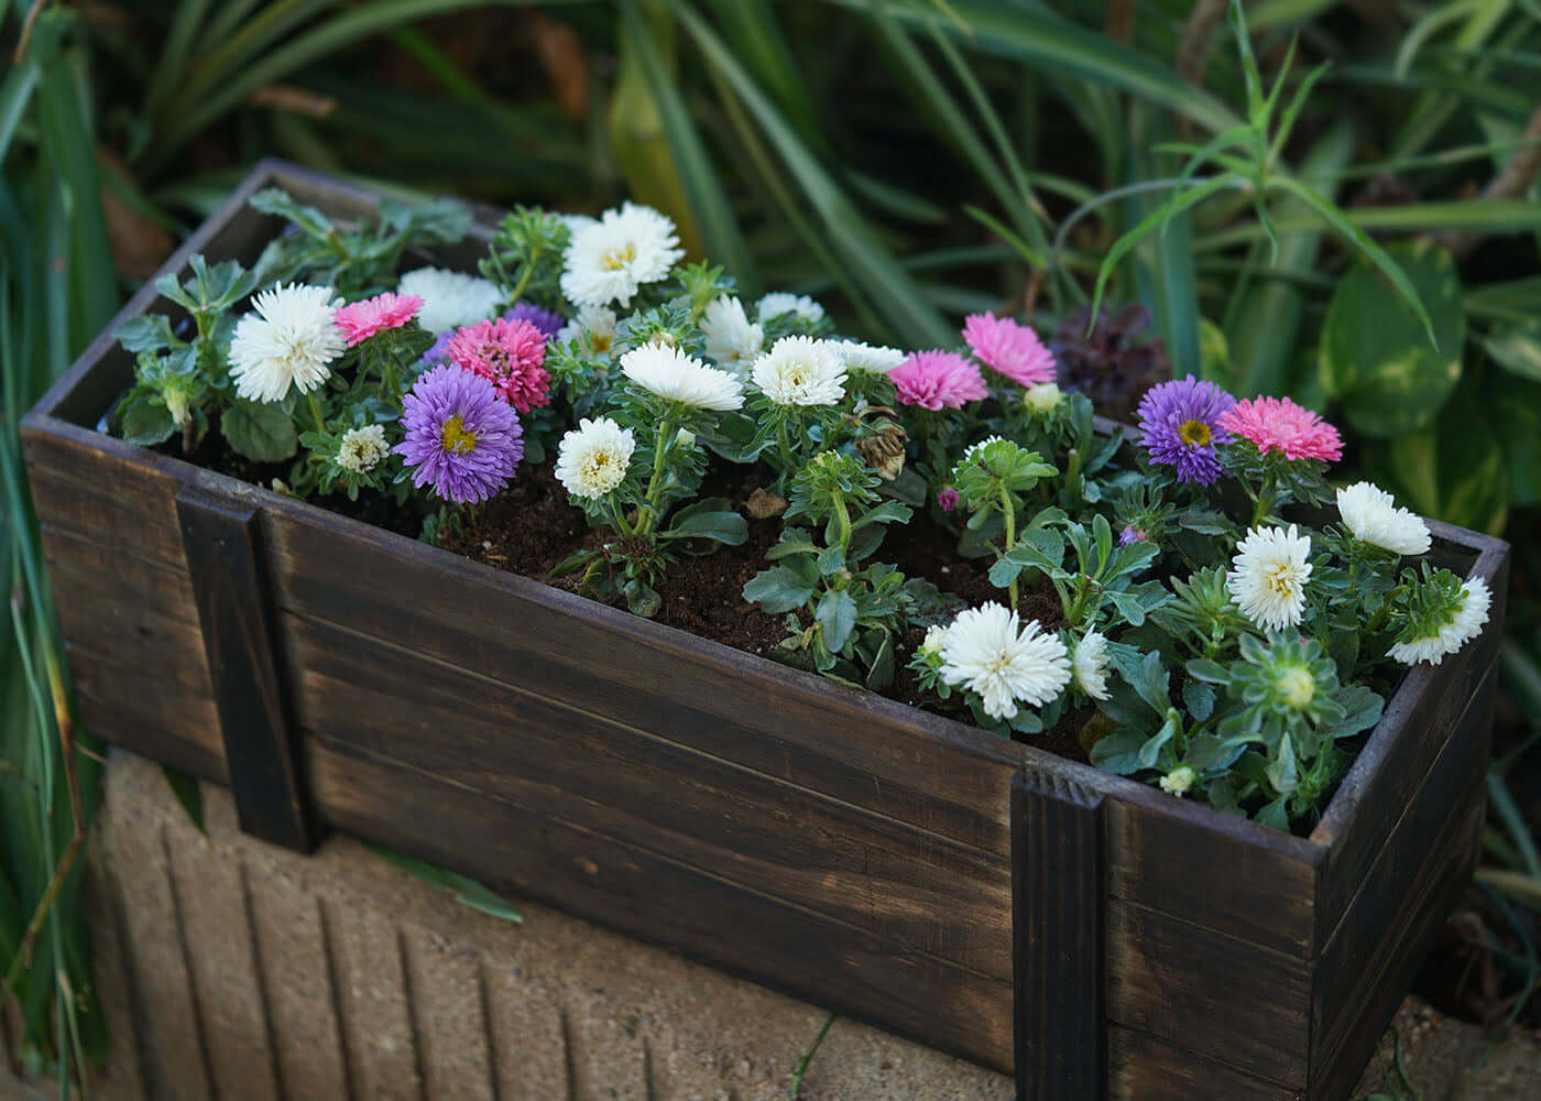
[[[746,293],[814,293],[843,327],[909,345],[980,308],[1054,327],[1123,239],[1106,301],[1142,301],[1179,373],[1293,393],[1348,427],[1344,473],[1516,537],[1472,938],[1504,976],[1489,1016],[1524,1012],[1541,956],[1523,538],[1541,504],[1541,6],[1245,12],[1254,63],[1213,0],[6,0],[0,964],[23,1069],[79,1070],[105,1039],[72,874],[20,955],[74,837],[68,777],[89,814],[96,766],[89,731],[72,768],[60,751],[68,685],[17,421],[267,154],[404,194],[630,194]],[[1259,139],[1308,79],[1284,140]],[[1125,237],[1225,173],[1241,184]],[[1438,350],[1365,242],[1445,304]]]

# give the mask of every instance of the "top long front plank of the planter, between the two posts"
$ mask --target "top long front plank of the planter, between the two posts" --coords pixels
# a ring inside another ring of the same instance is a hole
[[[279,603],[547,699],[1009,854],[1016,768],[1122,777],[772,665],[293,501],[271,504]]]

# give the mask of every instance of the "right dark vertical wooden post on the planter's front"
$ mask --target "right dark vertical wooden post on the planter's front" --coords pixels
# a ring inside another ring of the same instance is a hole
[[[1017,1101],[1106,1096],[1102,800],[1028,768],[1011,783]]]

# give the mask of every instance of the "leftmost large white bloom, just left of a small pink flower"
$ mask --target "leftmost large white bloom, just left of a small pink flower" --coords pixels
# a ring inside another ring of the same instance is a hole
[[[230,342],[230,376],[247,401],[282,401],[293,384],[308,393],[331,376],[331,361],[347,341],[331,324],[342,304],[331,287],[268,287]]]

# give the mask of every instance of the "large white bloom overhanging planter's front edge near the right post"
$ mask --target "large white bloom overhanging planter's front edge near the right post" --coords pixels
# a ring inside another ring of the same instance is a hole
[[[991,719],[1014,719],[1017,703],[1042,706],[1069,683],[1069,657],[1039,621],[989,603],[959,612],[942,638],[942,678],[979,694]]]

